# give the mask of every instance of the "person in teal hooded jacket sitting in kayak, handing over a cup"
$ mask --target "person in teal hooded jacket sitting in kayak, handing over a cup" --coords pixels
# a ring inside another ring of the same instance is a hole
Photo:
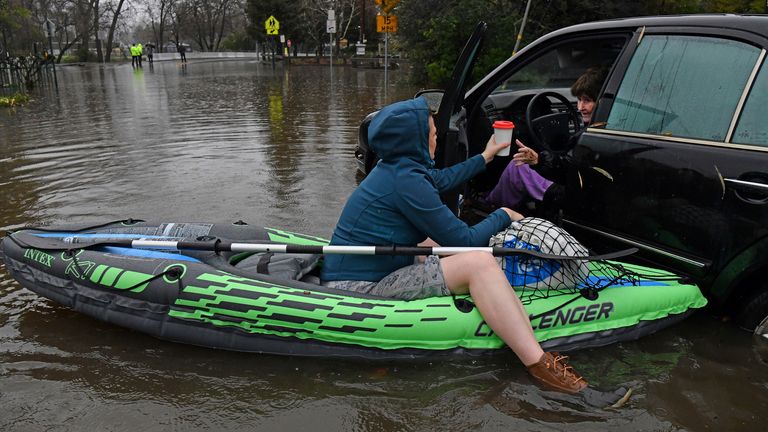
[[[485,150],[450,168],[434,169],[437,131],[423,98],[383,108],[368,128],[368,143],[380,161],[352,193],[331,238],[332,245],[487,246],[489,238],[522,215],[500,208],[468,226],[440,200],[485,169],[509,144],[491,138]],[[529,372],[556,390],[576,393],[586,381],[555,353],[544,353],[528,314],[496,259],[466,252],[414,262],[409,256],[326,255],[323,283],[411,300],[469,293],[486,323],[517,354]]]

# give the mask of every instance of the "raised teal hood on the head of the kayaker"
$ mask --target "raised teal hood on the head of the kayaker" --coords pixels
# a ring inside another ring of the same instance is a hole
[[[384,107],[368,127],[368,145],[379,159],[411,159],[432,168],[429,156],[429,105],[418,97]]]

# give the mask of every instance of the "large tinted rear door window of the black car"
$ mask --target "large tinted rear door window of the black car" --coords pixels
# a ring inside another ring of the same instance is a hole
[[[606,129],[723,141],[759,54],[733,40],[646,35]]]

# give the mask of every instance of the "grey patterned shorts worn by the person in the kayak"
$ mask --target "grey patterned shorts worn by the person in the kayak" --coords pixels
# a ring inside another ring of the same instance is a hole
[[[329,281],[324,285],[329,288],[401,300],[416,300],[451,294],[445,285],[443,270],[440,268],[440,257],[436,255],[428,256],[424,263],[397,269],[378,282],[345,280]]]

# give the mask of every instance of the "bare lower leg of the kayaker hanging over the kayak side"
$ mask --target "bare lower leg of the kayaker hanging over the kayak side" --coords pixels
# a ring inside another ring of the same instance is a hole
[[[448,289],[469,293],[485,322],[517,354],[524,365],[541,359],[544,351],[531,322],[496,259],[487,252],[466,252],[440,260]]]

